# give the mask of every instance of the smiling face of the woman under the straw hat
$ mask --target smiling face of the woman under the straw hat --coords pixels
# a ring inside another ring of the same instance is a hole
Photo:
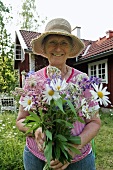
[[[72,41],[63,35],[49,35],[44,42],[44,50],[50,65],[60,66],[66,63],[72,48]]]

